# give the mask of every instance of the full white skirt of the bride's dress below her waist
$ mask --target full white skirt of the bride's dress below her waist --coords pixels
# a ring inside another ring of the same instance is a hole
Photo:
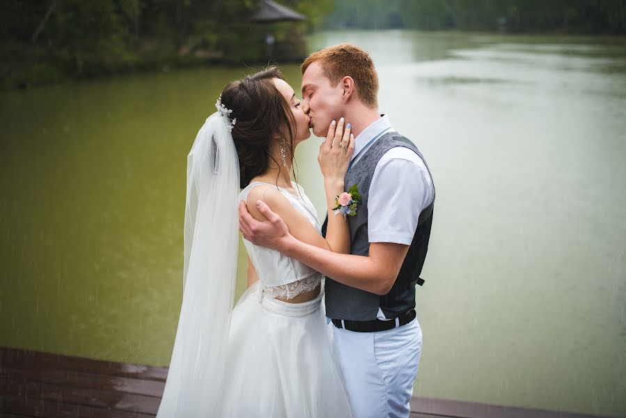
[[[322,295],[292,304],[251,286],[232,312],[215,417],[352,417]]]

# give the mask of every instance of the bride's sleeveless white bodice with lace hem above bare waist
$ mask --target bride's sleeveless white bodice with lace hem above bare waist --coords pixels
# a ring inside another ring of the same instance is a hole
[[[313,207],[313,203],[311,203],[306,194],[304,194],[302,187],[294,182],[292,182],[292,184],[299,190],[298,196],[291,194],[282,187],[278,187],[278,189],[296,210],[302,212],[302,215],[311,222],[311,225],[313,225],[321,235],[322,226],[318,219],[317,212],[315,212],[315,208]],[[269,185],[269,183],[250,183],[247,187],[242,189],[240,200],[245,201],[250,190],[258,185]],[[276,187],[276,185],[270,186]],[[308,265],[300,263],[293,258],[283,256],[283,254],[274,249],[253,245],[253,243],[248,240],[244,240],[244,245],[261,281],[260,288],[263,292],[263,297],[292,299],[301,293],[312,291],[322,283],[322,274],[308,267]]]

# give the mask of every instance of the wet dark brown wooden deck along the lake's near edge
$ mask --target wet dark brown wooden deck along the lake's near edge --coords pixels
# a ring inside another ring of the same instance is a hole
[[[154,417],[166,376],[165,367],[0,347],[0,417]],[[421,397],[411,410],[412,418],[587,417]]]

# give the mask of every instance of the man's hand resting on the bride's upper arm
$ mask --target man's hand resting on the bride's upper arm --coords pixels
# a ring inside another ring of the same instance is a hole
[[[256,201],[256,207],[267,221],[258,221],[250,215],[246,203],[239,205],[239,230],[244,238],[260,247],[283,250],[286,242],[292,238],[285,221],[269,209],[263,201]]]

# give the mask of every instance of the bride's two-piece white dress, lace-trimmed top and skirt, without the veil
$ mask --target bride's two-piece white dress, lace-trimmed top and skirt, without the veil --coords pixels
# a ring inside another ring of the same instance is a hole
[[[285,189],[292,206],[321,231],[304,189]],[[240,193],[245,201],[251,183]],[[276,187],[275,185],[273,187]],[[320,232],[321,233],[321,232]],[[215,417],[351,417],[341,376],[331,350],[322,303],[323,277],[308,266],[244,240],[259,281],[242,295],[230,318],[224,392]],[[321,287],[304,303],[290,299]]]

